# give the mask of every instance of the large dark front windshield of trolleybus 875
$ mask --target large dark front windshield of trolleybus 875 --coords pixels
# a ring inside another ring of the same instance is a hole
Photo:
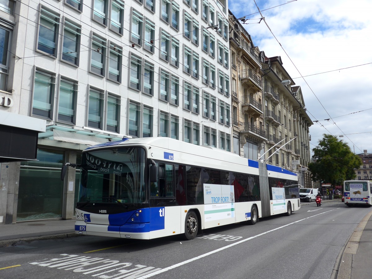
[[[140,147],[84,152],[78,202],[146,202],[145,158]]]

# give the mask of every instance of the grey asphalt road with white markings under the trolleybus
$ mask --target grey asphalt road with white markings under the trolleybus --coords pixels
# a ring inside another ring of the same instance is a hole
[[[331,278],[370,208],[303,203],[289,217],[205,230],[195,240],[80,236],[0,248],[0,278]],[[1,267],[9,267],[1,269]]]

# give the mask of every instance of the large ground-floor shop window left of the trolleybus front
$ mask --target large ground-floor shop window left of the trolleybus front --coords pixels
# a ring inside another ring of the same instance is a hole
[[[37,159],[20,167],[17,221],[62,217],[64,151],[39,148]]]

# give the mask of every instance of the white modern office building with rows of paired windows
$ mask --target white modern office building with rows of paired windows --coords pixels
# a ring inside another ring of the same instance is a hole
[[[231,151],[227,5],[1,1],[0,116],[13,121],[0,129],[24,128],[17,147],[34,145],[1,160],[0,224],[73,218],[79,170],[65,182],[60,170],[96,143],[160,136]]]

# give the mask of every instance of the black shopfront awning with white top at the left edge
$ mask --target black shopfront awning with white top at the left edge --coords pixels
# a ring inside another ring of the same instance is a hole
[[[0,110],[0,163],[36,160],[38,133],[46,121]]]

